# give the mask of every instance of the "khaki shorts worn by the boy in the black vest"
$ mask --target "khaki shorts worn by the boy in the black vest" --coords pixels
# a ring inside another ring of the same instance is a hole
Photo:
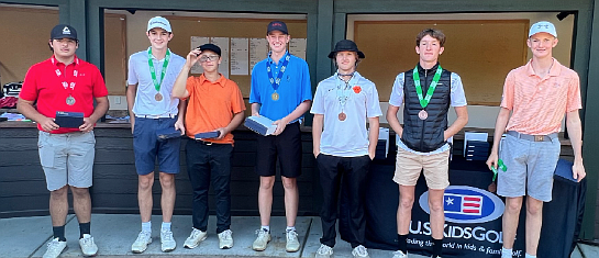
[[[450,186],[450,149],[433,155],[419,155],[402,148],[397,149],[395,182],[401,186],[415,186],[422,170],[430,189],[447,188]]]

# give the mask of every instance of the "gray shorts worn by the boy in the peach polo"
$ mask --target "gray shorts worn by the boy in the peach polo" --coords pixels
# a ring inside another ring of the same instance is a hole
[[[499,170],[497,194],[511,198],[528,194],[543,202],[551,201],[561,147],[557,137],[552,142],[532,142],[506,136],[501,139],[499,158],[508,170]]]

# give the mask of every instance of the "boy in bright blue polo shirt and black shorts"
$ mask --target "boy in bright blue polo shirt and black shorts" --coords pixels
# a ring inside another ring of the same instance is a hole
[[[252,245],[254,250],[264,250],[270,242],[270,210],[273,184],[275,183],[277,156],[280,162],[285,188],[285,213],[287,216],[287,251],[299,250],[296,233],[299,193],[296,178],[301,173],[301,133],[303,113],[310,109],[312,90],[308,64],[287,52],[289,33],[281,21],[268,24],[266,40],[270,46],[268,58],[254,66],[249,103],[252,115],[264,115],[277,125],[274,135],[257,136],[258,159],[256,171],[260,176],[258,207],[262,228]]]

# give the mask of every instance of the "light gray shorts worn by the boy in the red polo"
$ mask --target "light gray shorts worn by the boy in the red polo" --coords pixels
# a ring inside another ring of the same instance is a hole
[[[68,183],[76,188],[91,187],[96,137],[93,132],[51,134],[40,131],[37,148],[49,191]]]

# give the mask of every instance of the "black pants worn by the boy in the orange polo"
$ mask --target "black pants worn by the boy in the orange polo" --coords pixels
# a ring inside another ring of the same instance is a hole
[[[217,233],[231,227],[231,144],[212,144],[188,141],[186,146],[187,172],[193,190],[193,227],[202,232],[208,227],[208,189],[215,194]]]

